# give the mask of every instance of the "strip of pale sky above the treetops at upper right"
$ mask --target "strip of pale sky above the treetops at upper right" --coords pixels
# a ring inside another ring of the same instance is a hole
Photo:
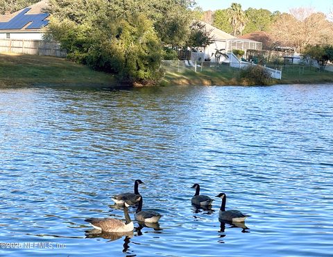
[[[240,3],[243,10],[252,7],[267,9],[271,12],[280,10],[284,13],[298,7],[311,7],[326,14],[333,10],[333,0],[196,0],[196,3],[203,10],[226,9],[231,6],[231,3]]]

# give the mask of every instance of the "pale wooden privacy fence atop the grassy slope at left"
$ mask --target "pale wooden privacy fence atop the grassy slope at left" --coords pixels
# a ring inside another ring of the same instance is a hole
[[[44,40],[0,40],[0,53],[24,53],[62,58],[67,56],[66,51],[60,49],[58,42]]]

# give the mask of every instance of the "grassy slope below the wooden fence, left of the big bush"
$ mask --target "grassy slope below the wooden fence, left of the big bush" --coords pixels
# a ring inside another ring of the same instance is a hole
[[[17,54],[0,54],[0,86],[114,85],[114,77],[69,60]]]

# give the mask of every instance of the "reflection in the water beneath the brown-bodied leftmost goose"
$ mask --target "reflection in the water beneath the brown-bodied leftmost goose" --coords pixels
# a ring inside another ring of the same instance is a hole
[[[89,231],[85,231],[85,238],[104,238],[109,239],[108,242],[112,242],[115,240],[118,240],[122,237],[125,237],[123,239],[123,253],[126,253],[128,249],[130,248],[130,238],[133,238],[134,233],[133,231],[129,232],[104,232],[100,231],[99,229],[92,229]]]

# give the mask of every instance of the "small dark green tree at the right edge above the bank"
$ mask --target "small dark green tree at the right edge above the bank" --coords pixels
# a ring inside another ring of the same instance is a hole
[[[320,69],[325,69],[328,61],[333,61],[333,46],[332,45],[307,45],[304,56],[307,58],[312,58],[317,61]]]

